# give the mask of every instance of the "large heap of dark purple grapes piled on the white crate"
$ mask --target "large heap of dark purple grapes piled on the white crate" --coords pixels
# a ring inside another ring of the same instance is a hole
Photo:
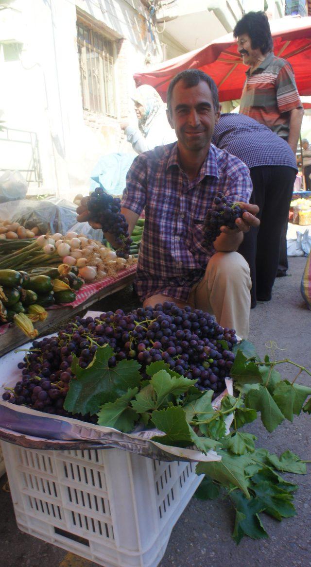
[[[17,405],[69,415],[63,404],[73,376],[73,356],[85,369],[104,344],[114,350],[110,367],[124,359],[137,359],[142,378],[149,378],[146,367],[165,361],[176,373],[197,379],[199,390],[211,389],[216,397],[225,388],[236,342],[234,329],[222,328],[208,313],[191,307],[180,309],[170,302],[140,307],[128,314],[117,309],[95,319],[76,317],[57,336],[33,341],[32,349],[18,365],[22,380],[2,397]]]

